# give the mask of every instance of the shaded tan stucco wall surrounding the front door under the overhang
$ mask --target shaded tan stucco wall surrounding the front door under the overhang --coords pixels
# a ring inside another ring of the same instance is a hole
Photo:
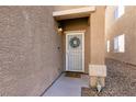
[[[63,26],[64,26],[64,32],[66,31],[84,31],[84,71],[88,73],[88,67],[89,67],[89,61],[90,61],[90,31],[89,31],[89,24],[88,24],[88,18],[82,18],[82,19],[72,19],[72,20],[65,20],[61,21]],[[64,38],[64,60],[66,59],[66,34],[63,34]],[[66,61],[66,60],[65,60]],[[64,67],[66,68],[66,67]]]

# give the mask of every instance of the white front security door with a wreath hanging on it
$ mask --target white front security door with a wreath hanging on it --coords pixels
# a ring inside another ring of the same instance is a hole
[[[66,71],[84,72],[84,33],[66,33]]]

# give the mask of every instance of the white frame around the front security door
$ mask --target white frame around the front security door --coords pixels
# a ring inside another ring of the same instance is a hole
[[[86,31],[66,31],[66,71],[77,71],[77,72],[84,72],[84,32]],[[81,34],[82,35],[82,70],[68,70],[68,54],[67,54],[67,49],[68,49],[68,35],[77,35],[77,34]]]

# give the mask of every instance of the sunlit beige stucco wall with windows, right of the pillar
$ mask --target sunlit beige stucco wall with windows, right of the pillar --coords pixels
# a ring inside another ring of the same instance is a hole
[[[125,34],[125,53],[114,53],[114,37],[121,34]],[[136,7],[125,8],[125,14],[114,21],[107,30],[106,39],[111,41],[111,52],[106,53],[107,58],[136,65]]]

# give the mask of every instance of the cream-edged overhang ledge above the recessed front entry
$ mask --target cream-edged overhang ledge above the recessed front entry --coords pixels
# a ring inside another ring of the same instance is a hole
[[[57,21],[66,20],[66,19],[86,18],[86,16],[90,16],[90,13],[93,11],[95,11],[95,7],[86,7],[79,9],[55,11],[53,12],[53,16]]]

